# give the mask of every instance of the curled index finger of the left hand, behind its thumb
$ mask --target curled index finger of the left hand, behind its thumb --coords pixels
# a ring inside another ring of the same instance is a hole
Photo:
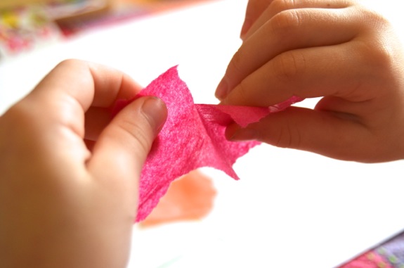
[[[117,98],[131,98],[138,84],[118,70],[82,60],[64,60],[27,98],[42,103],[43,117],[58,120],[84,137],[84,113],[91,106],[107,108]],[[52,113],[48,113],[52,110]]]

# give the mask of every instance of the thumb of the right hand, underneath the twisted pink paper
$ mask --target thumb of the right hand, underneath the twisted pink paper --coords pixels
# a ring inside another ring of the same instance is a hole
[[[379,147],[371,132],[354,117],[347,119],[344,115],[297,107],[273,113],[245,129],[231,125],[226,136],[232,141],[256,139],[282,148],[361,162],[375,161]],[[369,153],[369,158],[360,153],[363,151]]]

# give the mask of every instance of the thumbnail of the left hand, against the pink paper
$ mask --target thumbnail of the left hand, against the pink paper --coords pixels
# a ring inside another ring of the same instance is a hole
[[[143,102],[142,112],[158,133],[167,119],[167,106],[164,101],[155,96],[148,96]]]

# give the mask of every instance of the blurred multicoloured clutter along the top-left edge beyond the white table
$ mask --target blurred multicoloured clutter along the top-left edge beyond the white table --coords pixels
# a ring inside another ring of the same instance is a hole
[[[2,1],[0,56],[7,58],[86,30],[209,0]]]

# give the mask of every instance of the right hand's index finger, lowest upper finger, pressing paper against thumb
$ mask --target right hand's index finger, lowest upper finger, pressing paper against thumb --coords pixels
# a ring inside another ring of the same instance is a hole
[[[377,92],[365,85],[377,85],[382,80],[378,80],[379,72],[371,67],[374,63],[370,64],[370,58],[355,53],[360,49],[357,46],[363,46],[360,41],[356,43],[282,53],[246,77],[221,103],[266,107],[291,96],[368,101]]]

